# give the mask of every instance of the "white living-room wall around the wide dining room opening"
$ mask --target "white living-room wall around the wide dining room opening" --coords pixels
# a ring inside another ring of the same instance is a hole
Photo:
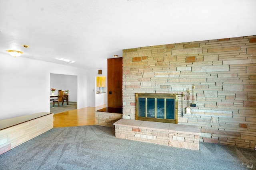
[[[0,120],[50,112],[50,73],[76,75],[77,108],[88,107],[88,70],[2,53],[0,61]]]

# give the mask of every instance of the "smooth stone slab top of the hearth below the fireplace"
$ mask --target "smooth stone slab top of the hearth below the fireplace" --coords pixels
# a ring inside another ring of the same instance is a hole
[[[131,119],[120,119],[114,123],[115,126],[133,127],[139,129],[148,129],[156,131],[165,131],[172,133],[186,133],[191,135],[201,135],[200,130],[194,125],[183,125],[174,123],[162,123],[154,121],[141,121]]]

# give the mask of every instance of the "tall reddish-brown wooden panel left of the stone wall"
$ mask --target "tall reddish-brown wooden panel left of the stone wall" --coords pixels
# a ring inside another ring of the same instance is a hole
[[[108,59],[108,107],[122,108],[122,57]]]

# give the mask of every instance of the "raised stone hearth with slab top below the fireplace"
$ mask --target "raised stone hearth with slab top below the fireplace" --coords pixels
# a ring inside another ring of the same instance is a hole
[[[201,133],[193,125],[120,119],[114,126],[117,138],[199,150]]]

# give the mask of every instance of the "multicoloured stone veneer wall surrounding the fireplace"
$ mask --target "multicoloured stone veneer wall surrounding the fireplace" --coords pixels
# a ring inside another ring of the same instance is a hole
[[[135,93],[176,93],[178,124],[198,126],[201,142],[255,148],[256,35],[124,49],[123,118],[135,119]]]

